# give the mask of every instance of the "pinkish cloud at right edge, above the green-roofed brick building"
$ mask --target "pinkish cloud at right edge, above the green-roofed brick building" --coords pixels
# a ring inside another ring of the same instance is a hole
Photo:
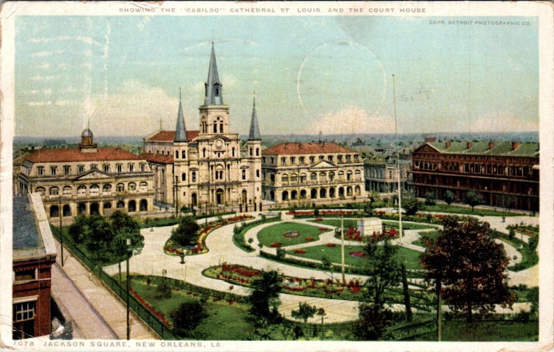
[[[521,120],[506,111],[488,112],[467,125],[470,132],[538,131],[539,119]]]

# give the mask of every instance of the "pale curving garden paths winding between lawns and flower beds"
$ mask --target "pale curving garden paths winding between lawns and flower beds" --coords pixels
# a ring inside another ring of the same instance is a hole
[[[257,213],[251,213],[251,215],[258,215]],[[227,217],[231,217],[229,215]],[[224,216],[226,218],[226,216]],[[491,217],[485,217],[491,218]],[[528,218],[528,217],[526,217]],[[494,219],[494,218],[493,218]],[[208,222],[215,221],[217,218],[210,218]],[[309,225],[314,225],[313,222],[306,222],[306,220],[293,220],[292,216],[285,215],[283,213],[283,219],[285,221],[294,221],[307,223]],[[498,219],[501,221],[501,219]],[[508,219],[506,219],[508,224]],[[515,219],[513,219],[515,220]],[[201,220],[202,221],[202,220]],[[250,220],[251,221],[251,220]],[[485,220],[486,221],[486,220]],[[518,223],[521,220],[518,221]],[[248,223],[249,221],[247,221]],[[245,238],[252,237],[254,238],[253,247],[256,248],[255,252],[247,253],[242,249],[238,248],[233,243],[233,226],[227,225],[215,229],[209,234],[206,238],[206,247],[208,247],[209,252],[206,254],[200,254],[195,256],[186,256],[186,264],[180,264],[181,259],[179,256],[168,256],[163,253],[163,245],[166,243],[170,237],[171,230],[177,225],[168,226],[168,227],[154,227],[151,229],[142,229],[141,234],[144,236],[144,247],[139,254],[135,254],[129,261],[129,270],[132,273],[144,274],[144,275],[158,275],[161,276],[163,270],[166,270],[166,276],[172,279],[184,280],[194,285],[199,285],[204,288],[210,288],[212,290],[218,290],[222,292],[233,292],[234,294],[248,295],[250,292],[249,288],[244,288],[239,285],[231,285],[225,281],[218,279],[211,279],[202,275],[202,271],[213,265],[220,265],[221,263],[233,263],[239,265],[245,265],[247,267],[253,267],[260,270],[278,270],[289,276],[303,277],[303,278],[315,278],[315,279],[328,279],[330,274],[322,272],[320,270],[314,270],[306,267],[297,267],[293,265],[286,265],[283,263],[278,263],[276,261],[271,261],[267,258],[262,258],[258,256],[259,249],[256,244],[258,243],[257,238],[255,237],[257,231],[263,227],[271,226],[273,223],[267,223],[255,227],[247,232]],[[492,224],[491,224],[492,225]],[[318,227],[329,227],[326,225],[315,224],[314,226]],[[332,227],[329,227],[332,228]],[[409,247],[414,240],[417,240],[416,236],[419,236],[417,233],[425,230],[408,230],[406,231],[406,238],[404,240],[404,245]],[[322,238],[323,237],[323,238]],[[410,240],[408,240],[410,238]],[[413,240],[412,240],[413,238]],[[334,238],[332,234],[323,234],[320,236],[320,240],[316,242],[309,243],[307,245],[317,245],[334,242],[340,243],[340,240]],[[345,241],[346,243],[347,241]],[[348,241],[350,244],[350,241]],[[352,243],[359,244],[359,243]],[[413,249],[418,247],[420,252],[422,252],[422,247],[411,245]],[[287,249],[293,249],[293,246],[287,247]],[[264,248],[269,252],[268,248]],[[125,270],[125,262],[122,263],[122,270]],[[105,272],[108,274],[116,274],[118,272],[118,265],[110,265],[104,268]],[[533,285],[533,282],[536,282],[534,285],[538,284],[538,265],[532,267],[528,270],[522,272],[509,272],[510,274],[510,285],[517,285],[519,283],[526,283],[527,285]],[[339,277],[338,274],[335,274],[334,277]],[[347,280],[355,278],[363,278],[361,275],[352,275],[347,274]],[[536,280],[536,281],[535,281]],[[229,288],[231,288],[229,290]],[[281,305],[279,311],[285,317],[290,317],[291,310],[298,308],[298,303],[307,302],[311,305],[315,305],[318,308],[324,308],[326,323],[332,322],[346,322],[357,319],[357,301],[345,301],[339,299],[322,299],[317,297],[305,297],[298,296],[294,294],[280,294]],[[394,305],[393,309],[402,309],[403,306],[398,304]],[[528,303],[515,303],[514,310],[519,310],[521,308],[528,309]],[[310,319],[310,322],[319,322],[319,317],[314,317]]]

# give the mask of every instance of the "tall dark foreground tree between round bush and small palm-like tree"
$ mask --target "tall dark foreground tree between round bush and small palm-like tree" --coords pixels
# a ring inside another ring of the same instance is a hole
[[[250,312],[260,321],[267,319],[274,322],[278,317],[278,306],[280,305],[279,292],[281,283],[278,272],[272,270],[262,272],[262,276],[251,282],[252,292],[249,296],[251,303]]]

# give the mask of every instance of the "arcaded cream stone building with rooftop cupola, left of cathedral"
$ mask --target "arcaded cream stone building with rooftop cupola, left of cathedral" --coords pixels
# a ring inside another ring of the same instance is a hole
[[[154,209],[153,173],[145,159],[120,148],[98,148],[89,128],[76,148],[42,148],[15,175],[17,193],[40,193],[50,219],[75,215],[139,215]]]

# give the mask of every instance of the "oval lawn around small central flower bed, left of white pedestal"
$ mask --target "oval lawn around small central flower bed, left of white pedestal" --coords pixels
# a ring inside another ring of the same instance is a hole
[[[298,231],[300,235],[297,237],[283,236],[288,231]],[[328,231],[331,231],[331,229]],[[280,222],[258,231],[258,241],[265,247],[271,247],[271,243],[280,243],[281,247],[286,247],[308,243],[305,240],[306,237],[312,237],[314,241],[319,240],[319,235],[328,231],[319,231],[317,226],[298,224],[297,222]]]

